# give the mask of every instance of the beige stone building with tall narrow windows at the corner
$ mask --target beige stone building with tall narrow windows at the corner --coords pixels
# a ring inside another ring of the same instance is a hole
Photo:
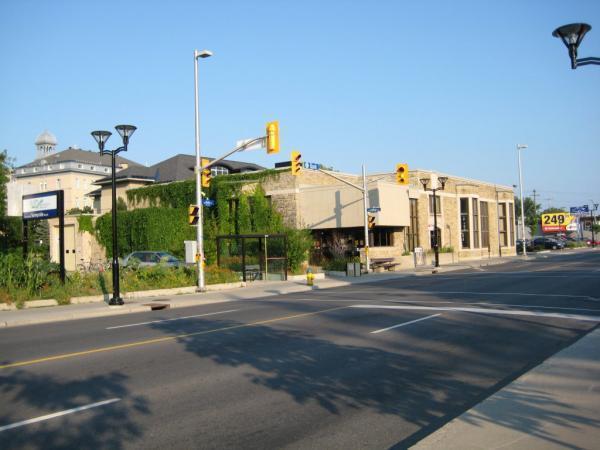
[[[445,188],[436,193],[442,262],[514,255],[511,187],[412,170],[409,186],[396,184],[394,173],[367,177],[369,206],[380,208],[372,214],[375,226],[368,233],[370,257],[393,258],[406,266],[415,248],[432,249],[433,195],[424,190],[420,179],[429,179],[431,187],[440,176],[448,178]],[[362,187],[362,177],[303,169],[297,176],[282,171],[266,179],[263,187],[287,225],[313,231],[316,256],[331,257],[342,251],[349,256],[358,249],[364,257],[363,197],[350,184]]]

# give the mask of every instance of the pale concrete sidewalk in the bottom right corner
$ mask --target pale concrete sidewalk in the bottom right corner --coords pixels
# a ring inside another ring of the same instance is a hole
[[[600,443],[600,328],[413,449],[592,449]]]

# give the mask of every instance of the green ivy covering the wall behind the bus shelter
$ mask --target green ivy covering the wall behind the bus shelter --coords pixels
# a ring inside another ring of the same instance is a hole
[[[284,227],[281,215],[271,207],[261,185],[263,180],[279,177],[280,173],[264,170],[213,178],[205,195],[215,200],[216,205],[203,208],[208,264],[216,262],[218,235],[286,233],[289,269],[299,269],[312,245],[310,232]],[[136,250],[166,250],[182,257],[183,241],[195,240],[196,236],[196,229],[188,225],[187,219],[188,206],[196,203],[195,180],[132,189],[127,192],[127,199],[131,206],[141,208],[118,213],[120,256]],[[111,255],[110,213],[98,218],[95,230],[98,241]]]

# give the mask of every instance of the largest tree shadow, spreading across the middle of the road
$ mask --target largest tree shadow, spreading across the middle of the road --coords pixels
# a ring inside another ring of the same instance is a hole
[[[298,312],[298,304],[289,307]],[[343,327],[351,320],[336,314],[319,314],[315,329],[326,338],[291,329],[285,322],[204,321],[197,332],[181,322],[153,328],[179,336],[186,351],[199,358],[246,368],[247,381],[287,394],[295,404],[316,405],[321,414],[339,417],[360,410],[392,416],[397,419],[393,434],[398,448],[435,431],[584,332],[464,314],[460,319],[436,318],[435,330],[444,331],[431,335],[417,327],[403,328],[406,345],[375,345],[365,336],[356,341],[356,332]],[[528,331],[534,325],[533,333]],[[507,337],[494,337],[499,331]],[[510,356],[498,358],[502,352]],[[563,418],[568,426],[572,417]],[[558,421],[561,416],[545,419]],[[517,411],[511,425],[520,423],[526,418]]]

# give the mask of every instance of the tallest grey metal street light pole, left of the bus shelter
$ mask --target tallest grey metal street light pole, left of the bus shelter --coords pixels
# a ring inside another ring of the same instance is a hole
[[[194,50],[194,113],[196,130],[196,204],[198,205],[198,226],[196,227],[196,265],[198,268],[198,291],[206,290],[204,284],[204,236],[203,236],[203,205],[202,205],[202,184],[201,184],[201,166],[200,166],[200,113],[198,112],[198,60],[200,58],[209,58],[212,52],[209,50]]]

